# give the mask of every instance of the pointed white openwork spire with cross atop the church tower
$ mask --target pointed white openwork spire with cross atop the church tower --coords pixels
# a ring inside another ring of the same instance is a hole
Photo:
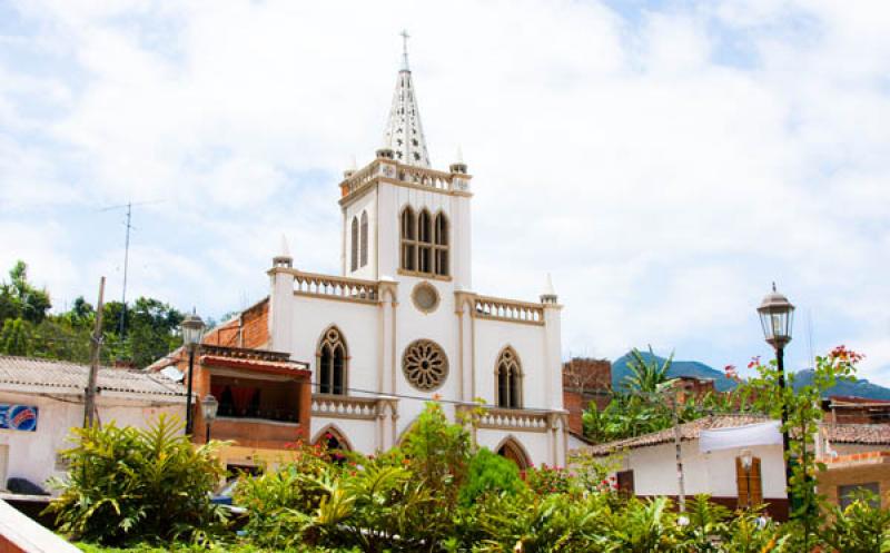
[[[402,31],[402,70],[398,71],[383,144],[395,152],[396,161],[429,167],[429,154],[426,150],[421,112],[417,109],[414,82],[408,69],[407,31]]]

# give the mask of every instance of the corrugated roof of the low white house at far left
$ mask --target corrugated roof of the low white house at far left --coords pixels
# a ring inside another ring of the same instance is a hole
[[[82,394],[89,367],[65,361],[0,355],[0,389],[46,389],[56,394]],[[151,396],[185,396],[186,389],[159,373],[99,367],[97,385],[102,391]]]

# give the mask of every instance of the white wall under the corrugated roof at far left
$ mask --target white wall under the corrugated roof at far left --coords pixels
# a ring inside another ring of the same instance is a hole
[[[83,404],[52,399],[36,394],[16,394],[0,392],[0,403],[32,405],[38,408],[37,431],[21,432],[0,429],[0,446],[7,447],[7,471],[0,474],[0,488],[6,487],[10,477],[27,478],[51,492],[46,482],[51,476],[61,476],[65,471],[57,471],[58,452],[71,447],[70,431],[83,424]],[[102,424],[115,422],[118,426],[136,426],[146,428],[161,413],[185,416],[185,404],[167,404],[147,406],[145,403],[128,402],[117,398],[97,399],[99,421]]]

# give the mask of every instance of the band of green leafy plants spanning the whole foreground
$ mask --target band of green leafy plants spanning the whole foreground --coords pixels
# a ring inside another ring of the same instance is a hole
[[[240,476],[235,500],[247,514],[238,534],[207,502],[220,476],[214,446],[188,453],[165,421],[142,433],[81,431],[67,453],[69,487],[51,508],[63,532],[130,547],[81,543],[89,553],[890,551],[890,513],[867,497],[834,508],[809,534],[800,521],[780,525],[706,496],[680,515],[666,497],[617,493],[611,462],[578,457],[568,471],[521,477],[508,461],[472,447],[473,422],[451,424],[429,404],[404,446],[378,456],[334,462],[322,446],[298,446],[289,462]]]

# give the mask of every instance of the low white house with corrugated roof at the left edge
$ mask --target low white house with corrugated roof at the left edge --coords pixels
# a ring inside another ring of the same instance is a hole
[[[89,367],[0,356],[0,490],[19,477],[44,486],[66,467],[59,452],[83,424]],[[146,427],[161,413],[185,416],[182,385],[158,373],[101,367],[97,415],[106,424]]]

